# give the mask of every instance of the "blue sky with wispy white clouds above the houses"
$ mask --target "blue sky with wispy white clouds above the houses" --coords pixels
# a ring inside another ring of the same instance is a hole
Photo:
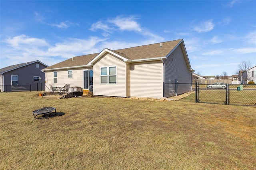
[[[256,1],[0,1],[0,68],[183,39],[201,75],[256,65]]]

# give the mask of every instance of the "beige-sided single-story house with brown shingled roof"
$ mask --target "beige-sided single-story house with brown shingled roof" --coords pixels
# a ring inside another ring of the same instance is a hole
[[[94,95],[170,97],[191,91],[192,72],[183,40],[72,57],[43,69],[46,86],[79,86]],[[186,83],[176,88],[175,81]],[[92,87],[93,88],[90,88]],[[46,88],[47,90],[47,88]]]

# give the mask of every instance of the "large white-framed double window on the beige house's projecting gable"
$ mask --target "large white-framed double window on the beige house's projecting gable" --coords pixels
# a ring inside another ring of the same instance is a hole
[[[100,68],[100,83],[116,84],[116,66]]]

